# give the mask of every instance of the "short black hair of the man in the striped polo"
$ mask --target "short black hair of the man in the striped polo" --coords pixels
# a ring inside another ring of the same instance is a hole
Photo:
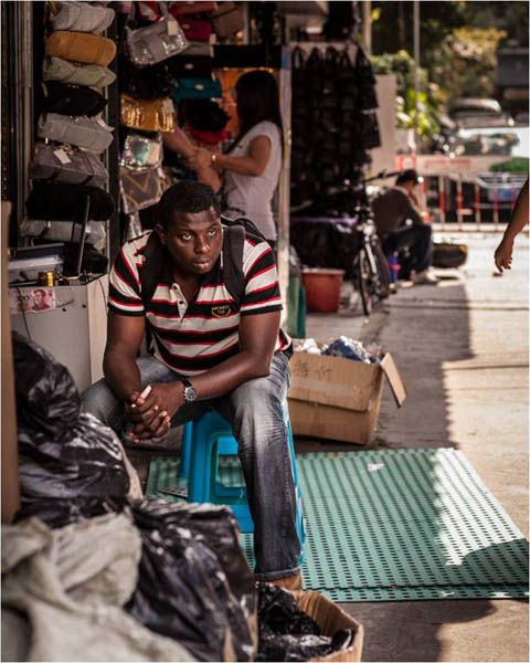
[[[221,215],[219,200],[211,187],[193,180],[183,180],[165,191],[158,203],[158,219],[163,228],[178,212],[195,214],[213,208],[218,217]]]

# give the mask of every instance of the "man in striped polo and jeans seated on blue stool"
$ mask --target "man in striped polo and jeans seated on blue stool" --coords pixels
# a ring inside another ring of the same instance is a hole
[[[245,231],[244,293],[235,302],[224,282],[229,233],[219,202],[210,187],[194,181],[163,193],[152,232],[163,254],[161,277],[146,303],[141,270],[151,233],[121,248],[110,273],[105,378],[85,391],[84,408],[116,431],[128,425],[132,441],[220,412],[239,442],[254,519],[255,575],[299,588],[301,544],[284,420],[292,341],[279,328],[273,251]],[[146,326],[151,356],[138,358]]]

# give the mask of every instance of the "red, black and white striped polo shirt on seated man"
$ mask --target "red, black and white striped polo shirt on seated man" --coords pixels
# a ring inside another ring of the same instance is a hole
[[[155,232],[155,231],[153,231]],[[187,302],[171,277],[161,281],[147,311],[141,299],[139,270],[150,232],[121,248],[110,272],[108,307],[114,313],[146,316],[151,330],[151,352],[168,368],[198,376],[239,352],[241,316],[282,311],[278,272],[271,246],[245,238],[243,272],[245,293],[237,304],[223,282],[223,254],[202,277],[199,291]],[[290,346],[279,332],[275,351]]]

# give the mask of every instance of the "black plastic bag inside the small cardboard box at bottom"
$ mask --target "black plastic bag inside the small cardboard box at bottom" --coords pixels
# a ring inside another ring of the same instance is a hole
[[[259,644],[256,661],[309,661],[351,646],[353,631],[321,635],[318,624],[303,612],[292,593],[258,585]]]

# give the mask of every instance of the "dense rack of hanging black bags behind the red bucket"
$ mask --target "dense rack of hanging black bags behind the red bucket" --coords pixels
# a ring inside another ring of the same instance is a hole
[[[359,179],[381,145],[375,78],[360,46],[315,46],[292,55],[292,209],[326,204],[330,191]],[[318,168],[315,165],[318,164]],[[325,211],[325,210],[322,210]]]

